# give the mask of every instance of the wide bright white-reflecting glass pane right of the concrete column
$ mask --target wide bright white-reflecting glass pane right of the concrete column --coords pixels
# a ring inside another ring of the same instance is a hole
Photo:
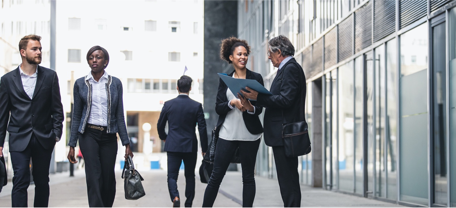
[[[353,61],[339,67],[339,189],[353,192],[354,171],[354,89]]]

